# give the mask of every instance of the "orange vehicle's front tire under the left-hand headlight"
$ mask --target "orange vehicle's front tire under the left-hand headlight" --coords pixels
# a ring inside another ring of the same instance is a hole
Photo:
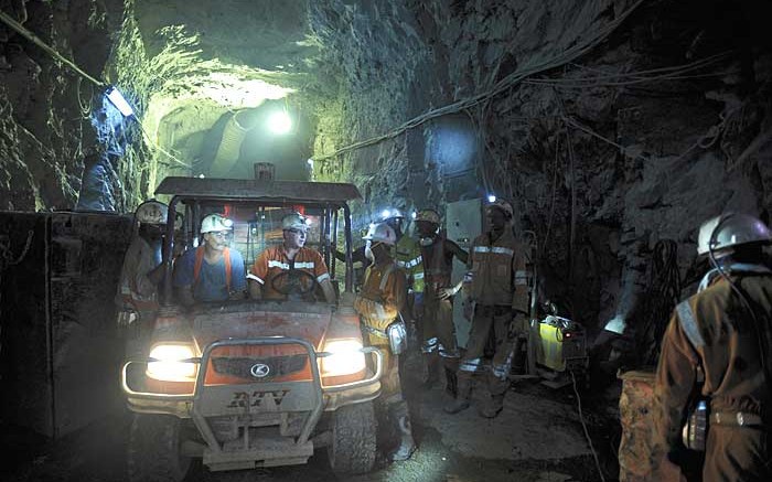
[[[180,482],[191,458],[181,453],[181,420],[170,415],[136,414],[129,432],[130,482]]]

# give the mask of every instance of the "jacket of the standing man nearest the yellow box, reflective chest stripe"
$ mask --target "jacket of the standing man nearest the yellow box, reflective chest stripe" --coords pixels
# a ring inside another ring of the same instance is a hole
[[[480,304],[511,306],[528,312],[528,275],[525,253],[512,231],[491,243],[489,233],[478,236],[470,251],[471,297]]]

